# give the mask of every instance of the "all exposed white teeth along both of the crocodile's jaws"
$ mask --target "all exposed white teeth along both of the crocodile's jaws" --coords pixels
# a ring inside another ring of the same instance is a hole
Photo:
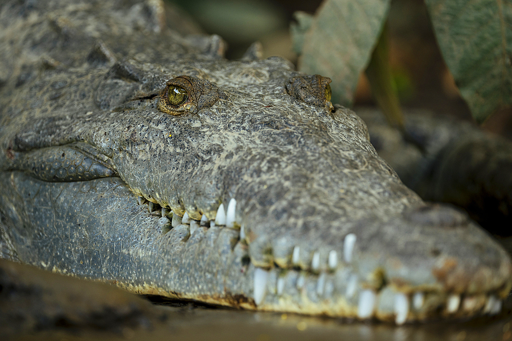
[[[138,203],[143,204],[146,200],[142,196],[138,197]],[[217,214],[214,220],[208,220],[206,215],[202,215],[201,220],[190,219],[188,213],[185,212],[183,217],[179,217],[176,214],[172,214],[169,209],[160,207],[158,204],[153,202],[148,202],[148,211],[152,214],[161,214],[161,218],[158,221],[158,224],[162,227],[162,230],[170,230],[170,226],[175,228],[179,224],[189,224],[190,225],[190,234],[193,234],[200,226],[213,227],[216,225],[226,226],[227,228],[234,228],[237,225],[236,222],[236,208],[237,208],[237,200],[231,198],[229,200],[227,211],[224,210],[224,204],[220,204],[219,209],[217,210]],[[160,209],[160,212],[159,212]],[[168,217],[172,216],[172,220],[169,220]],[[245,239],[245,230],[244,225],[242,224],[240,227],[240,239]],[[343,243],[343,259],[346,263],[350,263],[352,261],[352,253],[354,250],[356,235],[353,233],[348,234]],[[293,248],[292,257],[291,257],[292,265],[298,266],[300,263],[300,246],[295,246]],[[327,266],[329,270],[333,271],[337,268],[338,265],[338,254],[337,251],[332,250],[329,252],[327,259]],[[319,271],[321,267],[320,261],[320,253],[314,252],[311,260],[311,270]],[[267,280],[268,280],[268,270],[256,267],[254,271],[254,302],[256,305],[261,305],[264,301],[266,290],[267,290]],[[321,273],[318,276],[316,291],[318,294],[322,294],[325,286],[325,273]],[[276,293],[278,295],[283,294],[285,282],[283,278],[278,278],[276,283]],[[297,279],[296,286],[298,289],[302,289],[304,286],[304,277],[300,276]],[[353,297],[356,291],[357,286],[357,275],[352,275],[348,279],[347,289],[345,292],[345,296],[347,298]],[[375,313],[375,307],[378,299],[378,293],[371,289],[362,290],[359,293],[359,300],[357,306],[357,317],[359,319],[370,319]],[[425,301],[425,295],[423,292],[415,292],[412,295],[408,295],[405,293],[396,293],[394,300],[394,313],[395,313],[395,323],[401,325],[405,323],[408,319],[408,315],[411,309],[419,311],[423,306]],[[473,297],[466,297],[464,300],[461,300],[461,296],[459,294],[452,294],[447,298],[445,310],[447,313],[453,314],[456,313],[459,308],[462,307],[464,310],[471,311],[475,308],[477,304],[477,300]],[[491,294],[486,299],[486,303],[483,306],[482,313],[483,314],[498,314],[501,311],[502,301],[496,298],[495,295]]]

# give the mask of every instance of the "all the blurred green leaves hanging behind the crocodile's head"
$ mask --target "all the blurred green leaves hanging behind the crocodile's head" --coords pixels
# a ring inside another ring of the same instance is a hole
[[[444,61],[477,122],[512,106],[512,0],[424,0]],[[291,27],[298,67],[331,77],[334,102],[350,106],[366,69],[388,121],[403,118],[388,62],[391,0],[325,0]]]

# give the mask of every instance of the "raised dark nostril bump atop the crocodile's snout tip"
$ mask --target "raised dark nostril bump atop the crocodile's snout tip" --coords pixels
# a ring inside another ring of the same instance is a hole
[[[463,211],[441,204],[428,204],[406,213],[406,218],[414,223],[453,228],[467,226],[470,221]]]

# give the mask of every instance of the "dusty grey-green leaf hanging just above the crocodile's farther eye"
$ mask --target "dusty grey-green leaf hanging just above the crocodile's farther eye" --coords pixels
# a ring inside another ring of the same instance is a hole
[[[388,16],[390,0],[326,0],[306,32],[299,70],[332,79],[333,102],[350,105]]]

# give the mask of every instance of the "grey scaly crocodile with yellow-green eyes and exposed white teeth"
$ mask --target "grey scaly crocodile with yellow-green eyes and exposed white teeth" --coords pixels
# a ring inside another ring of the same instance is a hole
[[[226,60],[157,0],[0,6],[2,257],[261,311],[500,312],[508,254],[404,186],[327,77]]]

